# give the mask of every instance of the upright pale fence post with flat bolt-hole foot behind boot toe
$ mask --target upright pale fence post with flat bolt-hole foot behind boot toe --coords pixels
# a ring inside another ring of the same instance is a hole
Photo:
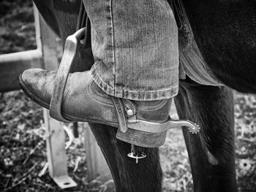
[[[47,70],[58,69],[58,54],[56,52],[56,35],[48,27],[34,6],[35,26],[37,34],[37,49],[42,49],[42,61]],[[60,188],[71,188],[77,184],[67,174],[67,155],[65,150],[65,134],[63,123],[50,118],[48,110],[44,109],[46,126],[47,158],[50,176]]]

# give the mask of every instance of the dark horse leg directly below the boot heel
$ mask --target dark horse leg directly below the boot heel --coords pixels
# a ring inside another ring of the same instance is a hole
[[[131,145],[116,139],[116,128],[96,123],[89,125],[110,167],[116,191],[162,191],[158,148],[143,148],[147,156],[136,164],[135,159],[127,156]]]

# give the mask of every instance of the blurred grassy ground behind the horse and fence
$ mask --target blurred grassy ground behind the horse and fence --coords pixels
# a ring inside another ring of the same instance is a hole
[[[30,0],[0,1],[0,54],[36,47]],[[256,191],[256,96],[234,92],[236,172],[241,192]],[[175,110],[172,117],[177,118]],[[22,91],[0,97],[0,191],[62,191],[45,166],[45,126],[42,107]],[[78,183],[66,191],[111,191],[113,183],[88,182],[86,151],[81,144],[67,150],[69,175]],[[181,130],[176,128],[160,148],[163,191],[192,191],[192,175]]]

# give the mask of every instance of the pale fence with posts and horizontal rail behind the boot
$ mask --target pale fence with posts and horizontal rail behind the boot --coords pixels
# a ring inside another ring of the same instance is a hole
[[[56,35],[47,26],[34,6],[36,28],[36,50],[0,55],[0,92],[20,89],[18,76],[21,72],[31,68],[47,70],[58,69],[58,54],[56,51]],[[61,188],[75,186],[76,183],[67,174],[67,156],[63,123],[50,118],[48,110],[44,110],[44,120],[47,139],[48,169],[50,176]],[[86,131],[86,153],[89,169],[89,181],[97,177],[98,180],[110,179],[111,174],[105,159],[94,139],[87,123],[83,123]]]

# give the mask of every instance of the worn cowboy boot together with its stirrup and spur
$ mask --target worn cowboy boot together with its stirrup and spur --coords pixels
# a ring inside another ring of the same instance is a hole
[[[28,69],[20,74],[20,87],[33,101],[49,109],[52,118],[114,126],[118,128],[118,139],[141,147],[163,145],[169,128],[187,126],[192,133],[199,131],[199,127],[188,120],[170,119],[172,99],[116,98],[98,87],[91,72],[69,73],[85,33],[86,28],[80,28],[67,37],[58,71]]]

